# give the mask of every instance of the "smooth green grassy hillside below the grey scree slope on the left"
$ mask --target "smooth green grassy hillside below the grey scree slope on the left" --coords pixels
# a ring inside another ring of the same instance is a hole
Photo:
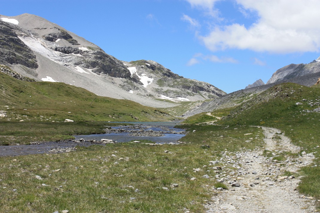
[[[156,108],[97,96],[56,82],[27,82],[0,72],[0,111],[7,121],[162,121],[173,119]]]

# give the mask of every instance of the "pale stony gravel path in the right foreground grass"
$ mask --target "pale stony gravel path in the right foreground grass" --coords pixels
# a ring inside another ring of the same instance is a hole
[[[300,148],[291,144],[275,128],[262,127],[265,135],[264,149],[273,153],[273,157],[283,151],[297,153]],[[275,138],[275,139],[273,139]],[[262,156],[263,150],[255,149],[246,152],[225,152],[220,162],[237,168],[236,172],[227,167],[216,171],[216,179],[228,186],[228,190],[213,188],[215,193],[207,201],[207,212],[228,213],[307,213],[317,212],[314,199],[301,195],[296,190],[299,179],[293,176],[280,176],[284,171],[297,171],[301,166],[310,164],[313,154],[304,154],[299,158],[288,158],[285,166],[273,160],[273,157]],[[229,167],[230,168],[230,167]],[[220,175],[220,176],[219,176]],[[219,177],[218,177],[219,176]]]

